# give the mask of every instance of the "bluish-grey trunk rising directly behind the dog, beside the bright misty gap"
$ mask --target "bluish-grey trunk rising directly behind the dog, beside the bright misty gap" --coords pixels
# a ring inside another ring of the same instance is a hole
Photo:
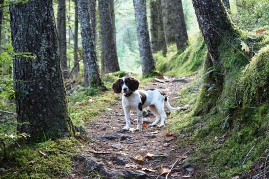
[[[133,0],[133,4],[142,74],[151,74],[155,71],[155,62],[150,47],[146,0]]]

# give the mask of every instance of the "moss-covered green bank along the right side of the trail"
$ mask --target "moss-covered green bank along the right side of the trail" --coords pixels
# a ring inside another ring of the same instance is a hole
[[[242,41],[252,47],[250,52],[245,52]],[[197,72],[184,74],[198,74],[192,84],[178,92],[177,103],[189,104],[191,108],[187,112],[170,115],[167,127],[176,131],[178,145],[186,151],[193,148],[185,162],[193,165],[197,178],[243,176],[256,164],[265,162],[269,154],[267,44],[266,33],[255,40],[250,39],[250,33],[242,34],[232,46],[223,44],[220,57],[225,70],[222,74],[207,66],[202,69],[202,65]],[[201,48],[199,42],[196,45],[193,49]],[[180,59],[179,56],[182,55],[176,54],[168,60]],[[208,58],[206,52],[196,54],[196,57],[203,57],[203,61]],[[188,64],[188,59],[184,61]],[[170,66],[171,69],[164,75],[176,71],[177,74],[173,75],[182,75],[180,67],[174,66]],[[183,62],[181,66],[184,66]],[[204,82],[209,75],[222,76],[221,88]],[[215,91],[217,96],[214,96]]]

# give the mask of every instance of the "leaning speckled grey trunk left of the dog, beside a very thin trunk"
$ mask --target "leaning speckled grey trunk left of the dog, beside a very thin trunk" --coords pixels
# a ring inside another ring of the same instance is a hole
[[[103,86],[98,61],[96,58],[94,34],[89,12],[89,0],[78,0],[78,16],[84,53],[84,84],[85,86]]]

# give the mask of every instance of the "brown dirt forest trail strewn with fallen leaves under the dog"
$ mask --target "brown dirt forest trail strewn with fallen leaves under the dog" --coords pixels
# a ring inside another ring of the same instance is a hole
[[[167,79],[165,82],[156,81],[143,88],[162,89],[167,94],[171,105],[175,106],[173,100],[178,92],[192,80],[193,77],[173,82],[172,79]],[[181,104],[181,107],[184,105]],[[171,111],[171,113],[187,112]],[[87,125],[86,132],[92,143],[84,146],[84,154],[78,155],[75,159],[73,168],[77,171],[75,178],[84,178],[93,173],[96,174],[93,178],[100,178],[99,176],[103,178],[104,176],[105,178],[165,178],[165,174],[161,173],[168,173],[171,168],[173,170],[168,178],[192,178],[195,171],[191,164],[182,162],[188,154],[191,154],[192,146],[190,148],[178,146],[177,136],[168,131],[165,126],[163,128],[148,127],[147,125],[155,121],[155,116],[149,110],[145,114],[142,131],[134,131],[137,120],[134,112],[131,113],[130,131],[121,131],[121,128],[125,126],[125,116],[121,106],[121,95],[119,95],[113,108],[108,108],[98,120]],[[171,122],[169,118],[168,115],[167,123]]]

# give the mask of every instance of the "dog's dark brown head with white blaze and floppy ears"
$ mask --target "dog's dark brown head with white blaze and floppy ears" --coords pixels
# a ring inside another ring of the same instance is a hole
[[[129,94],[138,89],[139,81],[133,77],[122,77],[119,78],[115,83],[112,84],[114,93],[125,93]]]

